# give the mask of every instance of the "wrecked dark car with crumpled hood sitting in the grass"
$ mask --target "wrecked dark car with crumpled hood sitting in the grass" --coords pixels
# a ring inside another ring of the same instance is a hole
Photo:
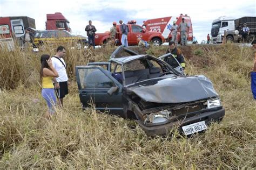
[[[120,56],[121,51],[129,56]],[[161,58],[120,46],[109,62],[76,66],[83,109],[92,102],[96,110],[136,119],[149,136],[164,135],[174,126],[190,135],[221,121],[225,109],[211,81],[186,76]]]

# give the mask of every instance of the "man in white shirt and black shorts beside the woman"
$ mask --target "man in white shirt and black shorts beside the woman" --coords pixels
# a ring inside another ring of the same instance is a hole
[[[68,89],[68,75],[66,74],[66,63],[63,57],[66,54],[66,50],[63,46],[59,46],[57,48],[57,53],[55,56],[51,58],[53,67],[57,70],[59,77],[53,78],[53,82],[55,85],[55,91],[58,105],[63,106],[63,98],[65,95],[69,94]]]

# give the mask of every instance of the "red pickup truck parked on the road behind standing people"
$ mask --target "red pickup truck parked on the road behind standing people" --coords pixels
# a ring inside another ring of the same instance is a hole
[[[121,25],[117,25],[117,35],[116,35],[116,38],[119,40],[119,43],[121,43],[121,37],[122,37],[120,26]],[[135,24],[126,24],[126,26],[128,28],[127,38],[128,38],[129,45],[138,45],[139,40],[143,39],[147,42],[149,41],[152,42],[154,46],[159,46],[165,40],[160,32],[148,31],[144,29],[142,26],[135,25]],[[97,33],[95,35],[95,45],[106,44],[106,42],[109,40],[110,40],[109,32]]]

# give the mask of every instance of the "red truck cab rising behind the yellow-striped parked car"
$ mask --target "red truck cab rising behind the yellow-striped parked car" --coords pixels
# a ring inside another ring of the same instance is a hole
[[[46,30],[66,30],[71,32],[69,20],[66,19],[62,13],[55,12],[53,14],[46,14]]]

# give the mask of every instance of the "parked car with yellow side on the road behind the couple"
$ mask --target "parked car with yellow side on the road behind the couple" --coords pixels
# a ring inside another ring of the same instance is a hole
[[[45,43],[51,44],[54,42],[75,42],[78,48],[83,48],[88,40],[83,36],[73,36],[70,32],[65,30],[45,30],[35,32],[35,44],[43,45]]]

